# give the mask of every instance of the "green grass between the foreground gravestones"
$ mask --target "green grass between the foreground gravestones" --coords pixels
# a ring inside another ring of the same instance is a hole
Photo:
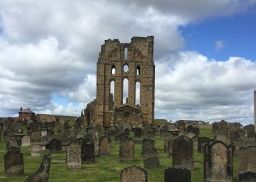
[[[133,135],[133,133],[132,133]],[[211,129],[200,130],[201,136],[211,138]],[[147,169],[148,181],[164,181],[164,170],[172,165],[172,159],[167,157],[164,153],[164,142],[161,138],[156,137],[155,147],[158,151],[159,162],[161,167],[157,169]],[[50,164],[50,178],[49,181],[120,181],[120,171],[124,167],[132,165],[143,167],[143,160],[141,157],[141,144],[135,145],[135,162],[121,163],[118,162],[119,143],[113,141],[111,148],[111,156],[105,158],[96,158],[94,164],[83,164],[81,170],[67,170],[64,161],[66,154],[52,154]],[[28,175],[34,173],[41,162],[42,154],[40,157],[31,157],[29,147],[22,147],[24,158],[25,175],[22,177],[7,178],[4,175],[4,154],[5,143],[1,140],[0,143],[0,181],[24,181]],[[233,176],[234,181],[237,181],[237,166],[238,161],[234,158],[233,161]],[[192,181],[203,181],[203,154],[194,151],[194,170],[192,171]]]

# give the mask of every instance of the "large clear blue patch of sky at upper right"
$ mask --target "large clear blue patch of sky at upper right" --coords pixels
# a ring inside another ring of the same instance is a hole
[[[192,50],[215,60],[230,56],[249,60],[256,58],[256,14],[215,17],[180,28],[186,44],[183,50]],[[215,42],[223,47],[215,49]]]

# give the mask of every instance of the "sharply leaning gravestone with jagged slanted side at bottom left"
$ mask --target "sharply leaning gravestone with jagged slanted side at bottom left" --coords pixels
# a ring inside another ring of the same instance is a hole
[[[50,173],[50,154],[45,155],[42,157],[41,165],[39,166],[39,169],[37,172],[29,175],[28,178],[26,178],[26,182],[48,182],[49,179],[49,173]]]

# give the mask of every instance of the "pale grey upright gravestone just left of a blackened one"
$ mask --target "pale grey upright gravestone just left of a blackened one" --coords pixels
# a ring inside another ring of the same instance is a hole
[[[81,147],[78,144],[70,143],[66,151],[67,169],[81,169]]]

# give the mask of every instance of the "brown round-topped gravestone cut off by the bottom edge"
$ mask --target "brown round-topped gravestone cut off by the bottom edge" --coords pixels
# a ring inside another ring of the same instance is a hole
[[[121,170],[121,182],[148,182],[148,172],[142,167],[127,167]]]

